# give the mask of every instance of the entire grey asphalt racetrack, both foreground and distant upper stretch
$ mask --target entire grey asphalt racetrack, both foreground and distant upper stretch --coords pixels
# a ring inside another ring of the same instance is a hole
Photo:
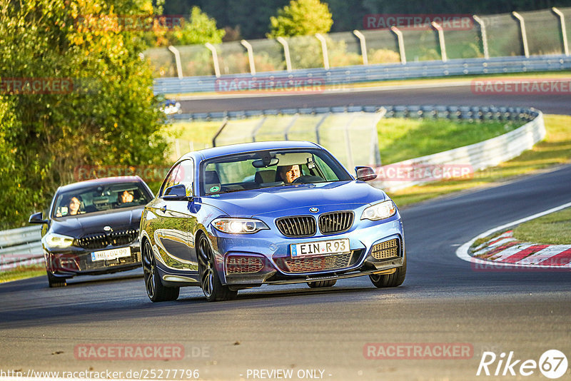
[[[352,93],[349,98],[189,101],[183,108],[422,104],[427,95],[430,103],[496,102],[474,102],[465,89],[449,88]],[[571,113],[568,98],[500,103]],[[77,278],[61,289],[47,288],[45,278],[2,284],[0,377],[14,370],[24,375],[29,370],[115,370],[123,374],[108,377],[132,378],[129,370],[155,370],[157,376],[162,370],[165,379],[166,370],[177,369],[198,370],[201,380],[268,380],[262,370],[284,369],[293,370],[291,380],[545,380],[537,369],[530,377],[477,377],[476,372],[485,351],[498,357],[513,351],[518,360],[538,361],[545,350],[557,349],[571,360],[571,273],[482,271],[458,259],[455,250],[485,230],[571,201],[570,189],[571,166],[565,166],[403,209],[408,275],[399,288],[379,290],[368,278],[353,278],[327,290],[305,285],[243,290],[237,300],[224,303],[206,303],[198,288],[184,288],[176,302],[153,304],[140,270]],[[463,360],[369,360],[363,350],[370,342],[464,343],[473,352]],[[169,361],[79,360],[74,355],[77,346],[101,343],[183,345],[185,355]],[[490,365],[492,374],[497,363]],[[519,365],[514,369],[518,372]],[[171,373],[168,379],[181,380],[180,375]],[[570,377],[567,370],[561,379]]]

